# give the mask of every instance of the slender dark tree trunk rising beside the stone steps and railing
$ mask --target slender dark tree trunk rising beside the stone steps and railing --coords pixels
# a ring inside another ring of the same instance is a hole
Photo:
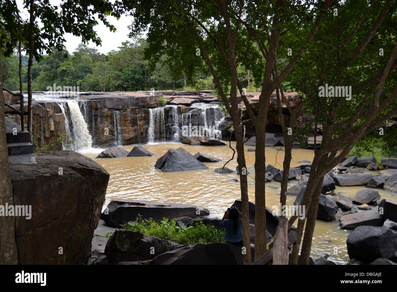
[[[33,144],[33,104],[32,104],[32,66],[35,42],[33,37],[33,26],[35,21],[34,0],[30,0],[30,19],[29,19],[29,61],[27,65],[27,130],[29,131],[30,143]],[[23,109],[21,109],[23,110]],[[22,121],[21,121],[22,122]]]

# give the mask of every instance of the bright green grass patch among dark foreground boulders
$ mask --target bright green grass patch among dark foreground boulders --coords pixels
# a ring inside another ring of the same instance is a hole
[[[198,222],[195,226],[181,228],[175,221],[169,222],[166,218],[163,218],[161,222],[155,222],[152,219],[138,217],[135,221],[124,224],[124,229],[138,231],[145,235],[178,242],[179,244],[225,242],[225,230],[223,228],[218,230],[213,225],[206,225],[202,222]]]

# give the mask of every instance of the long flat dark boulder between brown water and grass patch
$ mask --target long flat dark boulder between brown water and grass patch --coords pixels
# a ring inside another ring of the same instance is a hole
[[[175,217],[191,217],[209,215],[207,209],[200,206],[180,203],[158,203],[151,201],[115,199],[110,201],[104,213],[101,215],[108,226],[117,226],[124,222],[133,221],[139,215],[144,219],[152,218],[161,221],[163,217],[168,219]]]

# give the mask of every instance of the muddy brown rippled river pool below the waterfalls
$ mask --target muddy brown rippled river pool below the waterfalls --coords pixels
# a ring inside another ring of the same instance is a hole
[[[232,142],[232,146],[235,142]],[[131,151],[135,145],[122,146],[123,149]],[[121,157],[121,158],[101,158],[95,157],[102,151],[96,153],[84,153],[87,157],[93,158],[102,165],[110,174],[109,184],[106,192],[106,202],[104,208],[112,199],[136,199],[157,202],[189,203],[200,205],[209,209],[210,217],[223,216],[227,207],[240,199],[240,183],[233,182],[233,178],[239,179],[237,174],[216,174],[215,168],[222,167],[225,161],[231,158],[233,151],[229,146],[191,146],[181,143],[157,143],[143,145],[148,151],[155,154],[153,157]],[[233,147],[234,147],[233,146]],[[198,151],[222,159],[222,162],[204,162],[209,169],[183,171],[183,172],[162,172],[155,169],[156,160],[164,155],[170,148],[183,147],[192,155]],[[235,147],[234,147],[235,148]],[[245,147],[245,158],[247,167],[254,165],[255,152],[248,152]],[[279,147],[278,147],[279,148]],[[266,165],[272,164],[282,169],[284,152],[278,151],[275,147],[266,147]],[[282,149],[282,147],[281,147]],[[93,149],[95,151],[95,149]],[[314,152],[309,149],[292,150],[291,167],[296,167],[303,160],[312,161]],[[235,170],[237,166],[237,153],[235,159],[227,164],[227,167]],[[254,173],[249,170],[248,192],[249,200],[255,202],[254,195]],[[378,172],[372,171],[373,175]],[[297,184],[298,181],[290,180],[289,187]],[[336,190],[353,198],[359,190],[365,186],[357,187],[336,187]],[[266,206],[274,210],[273,206],[279,205],[280,183],[272,180],[266,184]],[[382,198],[394,198],[396,194],[376,189]],[[291,205],[295,196],[287,196],[287,205]],[[325,222],[317,220],[313,235],[311,255],[315,259],[324,253],[330,254],[332,261],[343,264],[349,260],[346,248],[346,238],[351,230],[341,230],[339,220]]]

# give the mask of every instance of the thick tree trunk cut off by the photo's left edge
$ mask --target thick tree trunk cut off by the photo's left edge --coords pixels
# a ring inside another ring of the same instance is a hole
[[[4,106],[3,72],[0,55],[0,105]],[[4,110],[0,110],[0,205],[14,205]],[[15,242],[15,216],[0,216],[0,265],[18,264],[18,249]]]

